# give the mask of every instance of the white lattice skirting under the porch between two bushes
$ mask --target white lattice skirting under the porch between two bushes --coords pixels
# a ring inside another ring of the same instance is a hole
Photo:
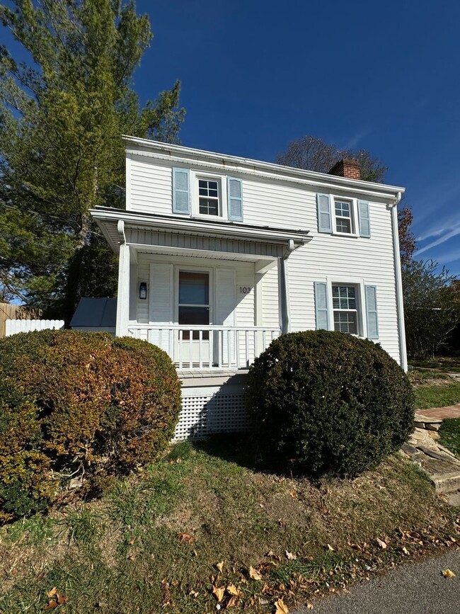
[[[248,422],[243,391],[195,388],[184,391],[182,410],[173,441],[202,439],[214,433],[246,431]]]

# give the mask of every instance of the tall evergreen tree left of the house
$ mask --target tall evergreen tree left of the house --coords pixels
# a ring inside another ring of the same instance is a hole
[[[122,206],[121,135],[177,142],[180,84],[140,105],[152,35],[134,0],[13,0],[0,18],[28,52],[18,63],[0,48],[0,285],[69,319],[81,292],[116,289],[88,210]]]

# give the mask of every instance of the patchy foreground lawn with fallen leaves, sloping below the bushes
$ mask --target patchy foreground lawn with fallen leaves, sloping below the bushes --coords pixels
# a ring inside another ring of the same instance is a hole
[[[61,614],[271,613],[458,543],[459,509],[403,455],[311,484],[253,470],[248,450],[179,444],[98,501],[1,528],[0,612],[59,593]]]

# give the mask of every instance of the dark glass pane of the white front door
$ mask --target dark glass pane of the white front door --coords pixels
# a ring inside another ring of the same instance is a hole
[[[179,324],[209,326],[209,273],[179,272]],[[183,331],[183,339],[190,339],[190,331]],[[193,331],[192,339],[200,339],[200,331]],[[202,339],[209,339],[208,331]]]

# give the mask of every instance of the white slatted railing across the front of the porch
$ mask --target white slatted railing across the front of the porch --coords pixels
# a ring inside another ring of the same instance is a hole
[[[129,324],[128,334],[166,351],[179,369],[248,368],[279,328]]]

